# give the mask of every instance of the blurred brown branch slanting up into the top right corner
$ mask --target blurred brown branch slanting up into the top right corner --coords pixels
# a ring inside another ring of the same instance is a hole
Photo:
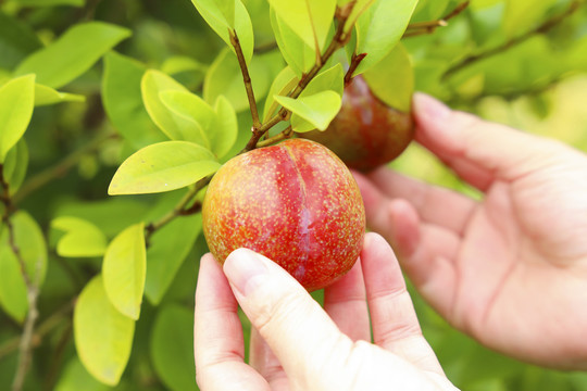
[[[477,54],[473,54],[473,55],[470,55],[465,59],[463,59],[462,61],[460,61],[459,63],[452,65],[451,67],[449,67],[445,74],[442,75],[442,79],[447,79],[448,77],[452,76],[453,74],[455,74],[457,72],[461,71],[462,68],[471,65],[471,64],[474,64],[480,60],[485,60],[487,58],[490,58],[492,55],[496,55],[496,54],[499,54],[499,53],[502,53],[522,42],[525,42],[526,40],[528,40],[529,38],[536,36],[536,35],[539,35],[539,34],[546,34],[547,31],[549,31],[551,28],[553,28],[554,26],[559,25],[561,22],[563,22],[564,20],[566,20],[566,17],[571,16],[575,11],[578,10],[578,8],[580,7],[582,4],[582,1],[580,0],[575,0],[571,3],[571,5],[569,5],[569,8],[566,9],[566,11],[564,11],[563,13],[559,14],[559,15],[555,15],[555,16],[552,16],[551,18],[545,21],[542,24],[540,24],[538,27],[519,36],[519,37],[515,37],[515,38],[512,38],[508,41],[505,41],[503,45],[499,46],[499,47],[496,47],[496,48],[492,48],[492,49],[489,49],[487,51],[484,51],[484,52],[480,52],[480,53],[477,53]]]

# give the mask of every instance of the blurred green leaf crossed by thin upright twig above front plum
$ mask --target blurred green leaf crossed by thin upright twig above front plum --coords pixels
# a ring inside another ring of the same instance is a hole
[[[267,93],[273,76],[264,59],[254,56],[249,66],[254,97],[258,101]],[[272,59],[268,58],[267,61],[273,61]],[[249,109],[249,99],[240,67],[228,50],[222,51],[210,65],[203,85],[203,98],[208,103],[214,104],[220,96],[228,99],[237,113]]]

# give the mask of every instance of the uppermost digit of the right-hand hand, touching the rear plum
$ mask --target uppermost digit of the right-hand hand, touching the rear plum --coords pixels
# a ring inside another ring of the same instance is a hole
[[[548,164],[555,144],[475,115],[452,111],[440,101],[414,94],[416,140],[463,179],[485,188],[496,179],[515,179]]]

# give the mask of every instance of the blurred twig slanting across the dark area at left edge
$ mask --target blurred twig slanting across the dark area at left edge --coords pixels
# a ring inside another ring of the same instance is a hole
[[[90,140],[87,144],[83,146],[78,150],[73,151],[54,166],[48,167],[47,169],[36,174],[23,185],[16,194],[14,194],[13,202],[21,202],[27,195],[42,188],[51,180],[64,176],[71,168],[75,167],[75,165],[78,164],[86,154],[98,150],[103,142],[116,137],[118,137],[116,134],[99,135],[95,139]]]

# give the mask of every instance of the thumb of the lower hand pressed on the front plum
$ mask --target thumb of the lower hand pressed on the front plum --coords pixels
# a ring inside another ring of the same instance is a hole
[[[286,270],[265,256],[239,249],[226,258],[224,273],[242,311],[289,378],[316,387],[316,381],[326,381],[325,362],[329,369],[342,366],[352,341]]]

